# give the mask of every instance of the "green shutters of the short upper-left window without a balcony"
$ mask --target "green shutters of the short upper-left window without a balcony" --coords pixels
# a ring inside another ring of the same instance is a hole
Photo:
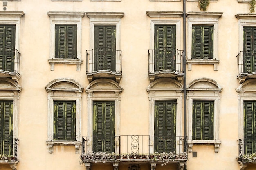
[[[77,58],[77,26],[55,25],[55,58]]]

